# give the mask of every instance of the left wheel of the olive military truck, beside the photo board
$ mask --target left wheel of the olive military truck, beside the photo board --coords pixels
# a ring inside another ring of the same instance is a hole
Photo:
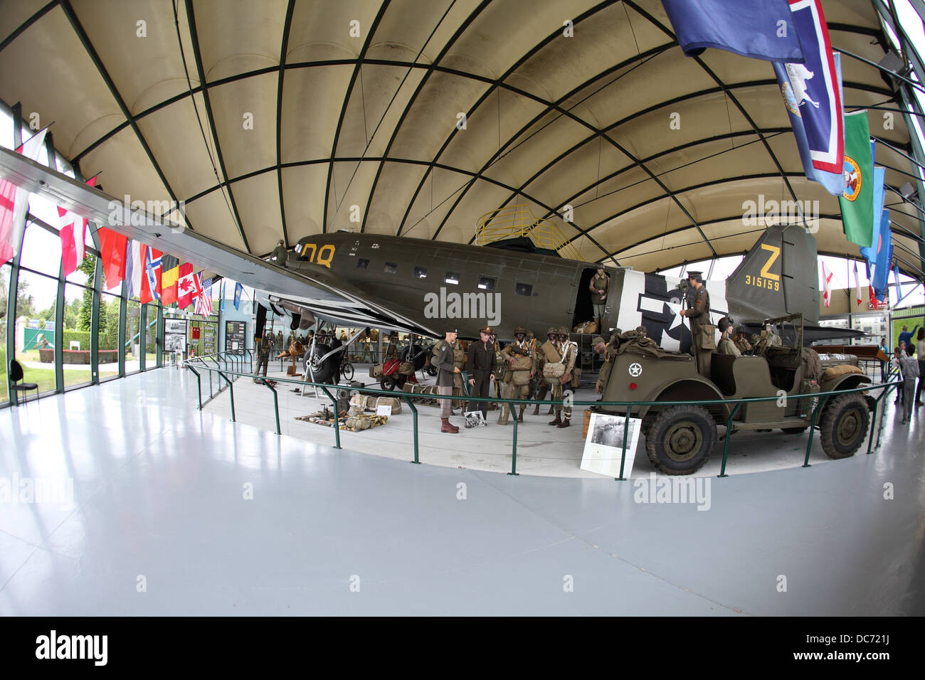
[[[690,475],[709,460],[716,422],[702,406],[671,406],[648,428],[648,459],[666,475]]]

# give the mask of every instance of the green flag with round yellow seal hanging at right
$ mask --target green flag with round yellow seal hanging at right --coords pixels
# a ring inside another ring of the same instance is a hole
[[[839,197],[845,237],[860,246],[873,242],[873,159],[867,111],[845,115],[845,192]]]

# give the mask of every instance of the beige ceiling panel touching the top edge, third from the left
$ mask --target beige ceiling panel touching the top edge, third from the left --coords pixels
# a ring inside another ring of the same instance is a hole
[[[192,8],[206,82],[279,66],[286,5],[282,0],[195,0]]]

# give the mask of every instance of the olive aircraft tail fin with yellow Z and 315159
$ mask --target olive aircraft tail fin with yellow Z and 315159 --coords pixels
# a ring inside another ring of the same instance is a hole
[[[802,313],[819,322],[816,239],[806,229],[767,229],[726,279],[729,312],[736,322]]]

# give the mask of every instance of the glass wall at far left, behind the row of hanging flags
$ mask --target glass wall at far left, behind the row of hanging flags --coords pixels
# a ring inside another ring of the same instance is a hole
[[[38,131],[20,125],[20,140],[14,128],[12,110],[0,103],[0,145],[14,148]],[[75,177],[68,161],[50,144],[40,151],[38,162]],[[10,402],[7,371],[14,356],[25,381],[38,383],[43,394],[117,377],[120,360],[125,373],[157,366],[158,303],[145,305],[142,315],[138,300],[127,303],[121,297],[121,284],[113,291],[96,291],[102,282],[94,285],[93,280],[99,256],[94,225],[83,230],[87,256],[62,280],[60,227],[56,204],[31,195],[19,257],[0,263],[0,406]],[[12,299],[11,288],[17,291]],[[142,329],[143,316],[148,323]],[[98,352],[94,340],[99,341]],[[146,362],[140,356],[144,351]],[[35,393],[20,394],[19,400],[23,397],[34,399]]]

